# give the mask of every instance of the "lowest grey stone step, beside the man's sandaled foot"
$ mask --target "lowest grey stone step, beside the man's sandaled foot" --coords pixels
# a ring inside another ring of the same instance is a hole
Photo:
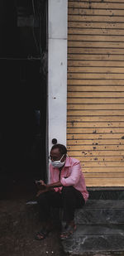
[[[124,225],[79,225],[62,244],[71,255],[124,252]]]

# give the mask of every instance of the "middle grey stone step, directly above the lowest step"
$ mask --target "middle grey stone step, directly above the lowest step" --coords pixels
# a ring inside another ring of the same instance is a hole
[[[124,200],[88,200],[75,214],[75,221],[83,224],[124,224]]]

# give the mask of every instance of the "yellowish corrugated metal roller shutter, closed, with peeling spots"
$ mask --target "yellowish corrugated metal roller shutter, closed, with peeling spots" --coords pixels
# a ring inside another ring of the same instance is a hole
[[[124,186],[124,0],[69,0],[69,156],[87,186]]]

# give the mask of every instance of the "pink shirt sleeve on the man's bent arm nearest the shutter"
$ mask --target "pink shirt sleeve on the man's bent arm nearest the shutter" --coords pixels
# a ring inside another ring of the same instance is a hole
[[[61,183],[63,186],[75,186],[80,178],[81,175],[81,166],[80,162],[75,162],[74,165],[71,167],[71,173],[68,178],[61,178]]]

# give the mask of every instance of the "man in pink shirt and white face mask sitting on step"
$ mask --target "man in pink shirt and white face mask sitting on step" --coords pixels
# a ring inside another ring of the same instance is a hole
[[[45,239],[51,229],[50,207],[63,208],[64,231],[61,239],[67,239],[76,229],[74,211],[82,208],[88,199],[83,172],[79,160],[68,157],[67,149],[62,144],[55,144],[50,150],[50,184],[40,181],[40,190],[37,193],[41,231],[36,239]]]

